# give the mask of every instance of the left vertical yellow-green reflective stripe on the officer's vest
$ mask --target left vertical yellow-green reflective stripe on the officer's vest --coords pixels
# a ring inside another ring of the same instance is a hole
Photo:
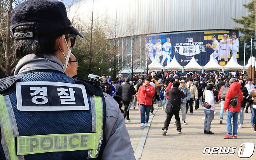
[[[6,99],[0,94],[0,126],[2,132],[2,143],[5,157],[11,160],[19,160],[15,154],[15,138],[12,130],[12,123],[9,117]],[[9,108],[10,110],[10,108]]]

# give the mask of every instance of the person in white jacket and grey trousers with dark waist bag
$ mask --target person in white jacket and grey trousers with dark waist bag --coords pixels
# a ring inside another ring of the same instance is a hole
[[[205,103],[207,102],[211,105],[211,107],[210,109],[204,107],[205,120],[203,129],[205,134],[214,134],[212,131],[210,131],[210,125],[212,123],[212,120],[214,119],[214,110],[216,108],[212,92],[214,90],[214,86],[211,84],[207,85],[206,89],[207,90],[205,90]]]

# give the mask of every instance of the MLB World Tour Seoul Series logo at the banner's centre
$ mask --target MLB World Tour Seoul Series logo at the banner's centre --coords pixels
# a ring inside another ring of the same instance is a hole
[[[193,38],[186,38],[186,42],[175,43],[174,53],[184,56],[194,56],[205,52],[205,44],[203,42],[193,42]]]

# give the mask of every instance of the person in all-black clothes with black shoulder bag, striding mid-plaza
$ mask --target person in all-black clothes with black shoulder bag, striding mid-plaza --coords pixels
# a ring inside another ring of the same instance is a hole
[[[172,84],[172,89],[169,89],[167,91],[168,95],[168,103],[171,103],[173,106],[172,112],[170,114],[166,114],[166,120],[165,120],[165,126],[162,128],[163,130],[163,136],[166,136],[167,129],[170,125],[172,116],[174,115],[176,120],[176,127],[177,127],[177,133],[181,133],[181,120],[179,118],[179,111],[181,109],[181,99],[184,99],[186,97],[186,94],[184,94],[183,91],[179,90],[179,82],[174,82]]]

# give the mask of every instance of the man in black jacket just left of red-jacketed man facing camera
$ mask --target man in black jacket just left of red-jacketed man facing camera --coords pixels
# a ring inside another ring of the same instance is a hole
[[[136,94],[136,90],[132,84],[130,84],[130,78],[125,79],[125,83],[119,87],[119,94],[122,95],[124,103],[124,119],[126,117],[127,122],[131,122],[129,118],[130,103],[132,102],[132,97]]]

